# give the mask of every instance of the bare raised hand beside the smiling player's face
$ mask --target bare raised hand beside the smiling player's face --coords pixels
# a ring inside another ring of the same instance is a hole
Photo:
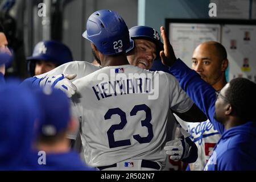
[[[164,30],[164,27],[160,27],[160,31],[161,31],[161,36],[164,42],[164,51],[160,52],[160,57],[164,65],[171,67],[172,64],[174,64],[174,62],[176,61],[174,49],[171,46],[171,43],[166,35],[166,31]]]

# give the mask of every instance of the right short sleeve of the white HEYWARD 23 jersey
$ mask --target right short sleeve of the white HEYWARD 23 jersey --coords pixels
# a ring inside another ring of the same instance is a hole
[[[178,113],[185,113],[192,105],[193,101],[187,96],[183,89],[181,89],[179,82],[170,74],[166,74],[169,93],[170,93],[170,107]]]

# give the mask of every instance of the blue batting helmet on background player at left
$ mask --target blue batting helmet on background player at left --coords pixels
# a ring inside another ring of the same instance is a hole
[[[32,76],[35,75],[35,61],[38,60],[49,61],[59,66],[73,61],[73,56],[70,49],[63,43],[47,40],[36,44],[33,55],[27,57],[28,71]]]

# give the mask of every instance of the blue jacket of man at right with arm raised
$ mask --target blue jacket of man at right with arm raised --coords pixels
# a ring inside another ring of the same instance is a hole
[[[256,170],[256,122],[248,121],[225,130],[224,125],[213,117],[216,93],[212,86],[179,59],[169,71],[222,135],[205,170]]]

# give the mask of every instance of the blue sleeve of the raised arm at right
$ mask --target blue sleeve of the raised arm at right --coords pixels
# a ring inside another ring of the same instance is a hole
[[[224,125],[214,119],[216,93],[213,87],[202,80],[200,75],[188,68],[180,59],[175,61],[169,71],[177,78],[181,88],[192,101],[207,115],[215,129],[220,134],[224,133]]]

